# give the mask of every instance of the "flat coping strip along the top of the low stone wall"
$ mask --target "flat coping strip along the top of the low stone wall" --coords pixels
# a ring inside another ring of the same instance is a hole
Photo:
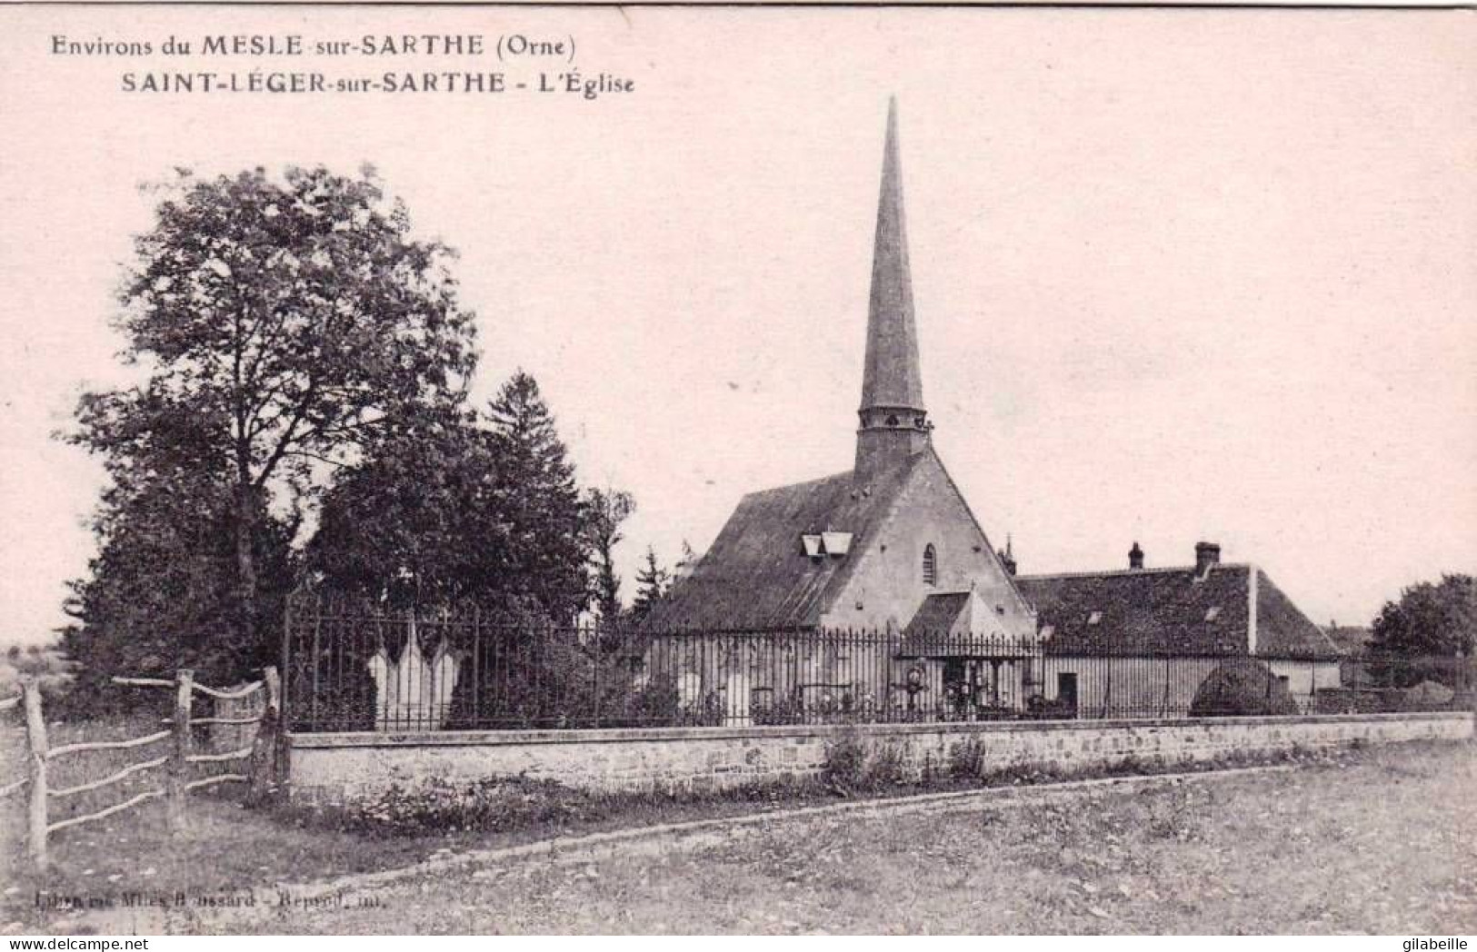
[[[715,728],[601,728],[588,731],[417,731],[384,734],[344,731],[289,734],[288,744],[301,750],[347,747],[473,747],[529,744],[629,744],[632,741],[731,741],[784,737],[905,737],[914,734],[1013,734],[1021,731],[1102,731],[1103,728],[1236,728],[1251,725],[1380,723],[1412,720],[1473,720],[1473,711],[1419,711],[1396,714],[1294,714],[1258,717],[1152,717],[1123,720],[929,720],[866,725],[768,725]]]

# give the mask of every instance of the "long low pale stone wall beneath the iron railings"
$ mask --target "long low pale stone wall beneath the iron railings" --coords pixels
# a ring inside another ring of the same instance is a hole
[[[826,745],[858,737],[895,744],[913,770],[945,768],[950,750],[978,738],[991,763],[1066,769],[1162,759],[1213,760],[1307,748],[1412,739],[1468,739],[1471,713],[1322,714],[1201,720],[1062,720],[783,728],[611,731],[455,731],[434,734],[298,734],[289,738],[291,790],[300,803],[343,803],[400,781],[495,775],[549,778],[606,791],[716,790],[814,776]]]

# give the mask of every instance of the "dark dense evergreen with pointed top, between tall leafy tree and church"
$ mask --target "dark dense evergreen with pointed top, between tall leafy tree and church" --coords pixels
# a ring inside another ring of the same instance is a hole
[[[422,412],[383,428],[323,496],[309,567],[403,608],[517,602],[570,623],[588,602],[575,469],[538,384],[518,372],[484,416]]]

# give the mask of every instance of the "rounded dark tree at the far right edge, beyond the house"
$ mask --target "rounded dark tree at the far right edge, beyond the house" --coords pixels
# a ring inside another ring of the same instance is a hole
[[[1465,574],[1422,582],[1385,602],[1374,620],[1369,651],[1399,658],[1391,667],[1399,686],[1422,679],[1458,683],[1461,664],[1440,658],[1473,657],[1477,646],[1477,580]]]

